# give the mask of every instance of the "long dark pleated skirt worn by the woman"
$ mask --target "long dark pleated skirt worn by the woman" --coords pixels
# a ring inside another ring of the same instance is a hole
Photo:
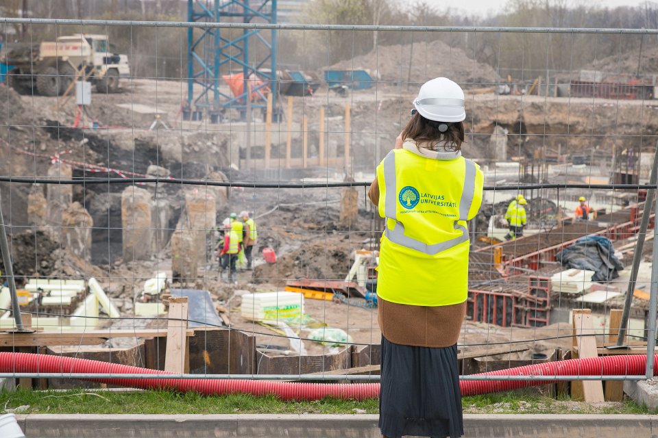
[[[404,346],[382,336],[379,427],[388,438],[463,435],[456,345]]]

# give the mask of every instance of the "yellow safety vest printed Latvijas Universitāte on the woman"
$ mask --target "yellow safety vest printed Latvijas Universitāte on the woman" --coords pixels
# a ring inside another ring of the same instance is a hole
[[[405,142],[377,167],[378,209],[386,218],[377,294],[405,305],[459,304],[468,290],[466,221],[480,209],[483,174],[461,152],[432,158],[415,151]]]

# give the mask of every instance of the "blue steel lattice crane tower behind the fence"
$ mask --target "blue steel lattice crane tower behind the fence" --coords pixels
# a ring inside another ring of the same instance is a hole
[[[277,0],[188,0],[189,22],[276,24]],[[242,118],[247,108],[247,80],[252,78],[252,108],[267,105],[267,90],[272,92],[276,108],[276,30],[274,29],[193,28],[187,30],[187,107],[186,120],[208,117],[217,123],[229,108],[239,110]],[[232,31],[232,32],[231,32]],[[269,39],[267,38],[269,34]],[[250,52],[250,46],[258,44]],[[258,50],[256,50],[258,49]],[[253,52],[253,53],[252,53]],[[252,53],[250,55],[250,53]],[[258,59],[254,59],[256,57]],[[221,73],[220,73],[221,72]],[[221,76],[243,74],[241,93],[233,95],[220,89]],[[256,78],[261,79],[256,83]]]

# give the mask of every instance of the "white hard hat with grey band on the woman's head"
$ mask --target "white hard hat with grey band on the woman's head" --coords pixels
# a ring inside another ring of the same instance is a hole
[[[447,77],[437,77],[423,84],[413,106],[421,116],[435,122],[461,122],[466,118],[464,92]]]

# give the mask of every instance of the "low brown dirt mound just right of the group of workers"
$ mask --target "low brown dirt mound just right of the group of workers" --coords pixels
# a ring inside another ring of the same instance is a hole
[[[256,266],[254,278],[278,286],[287,280],[341,280],[350,269],[350,246],[317,242],[280,256],[276,263]]]

